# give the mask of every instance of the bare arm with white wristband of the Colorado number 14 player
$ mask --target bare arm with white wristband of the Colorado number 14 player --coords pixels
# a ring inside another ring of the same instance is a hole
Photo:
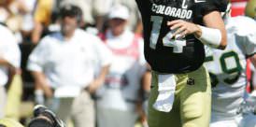
[[[175,35],[195,35],[202,43],[217,49],[225,49],[227,45],[226,31],[220,12],[212,11],[203,18],[206,26],[192,22],[176,20],[168,21],[171,30],[176,30]]]

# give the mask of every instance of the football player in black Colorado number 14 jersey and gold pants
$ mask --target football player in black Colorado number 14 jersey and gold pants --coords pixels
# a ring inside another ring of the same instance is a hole
[[[204,44],[226,46],[220,16],[226,3],[217,2],[136,0],[144,26],[145,57],[152,68],[149,127],[209,126],[211,88],[202,65]]]

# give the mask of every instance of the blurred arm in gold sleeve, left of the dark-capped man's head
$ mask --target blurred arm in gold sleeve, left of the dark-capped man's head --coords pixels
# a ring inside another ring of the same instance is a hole
[[[53,0],[37,0],[36,2],[34,14],[35,27],[31,36],[32,43],[34,44],[38,43],[44,30],[50,25],[53,2]]]

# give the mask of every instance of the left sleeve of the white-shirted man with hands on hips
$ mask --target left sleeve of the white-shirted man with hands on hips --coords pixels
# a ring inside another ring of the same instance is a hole
[[[43,68],[46,63],[46,56],[49,56],[47,40],[43,38],[30,54],[27,69],[30,71],[43,72]]]

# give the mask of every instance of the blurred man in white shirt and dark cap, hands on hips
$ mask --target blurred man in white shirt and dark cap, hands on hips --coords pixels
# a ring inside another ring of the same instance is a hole
[[[94,127],[90,94],[104,83],[112,53],[98,37],[78,29],[79,7],[65,5],[60,12],[61,32],[40,41],[29,56],[27,68],[37,88],[48,98],[54,97],[51,109],[57,116],[65,122],[72,119],[76,127]],[[97,67],[100,72],[94,78]]]

